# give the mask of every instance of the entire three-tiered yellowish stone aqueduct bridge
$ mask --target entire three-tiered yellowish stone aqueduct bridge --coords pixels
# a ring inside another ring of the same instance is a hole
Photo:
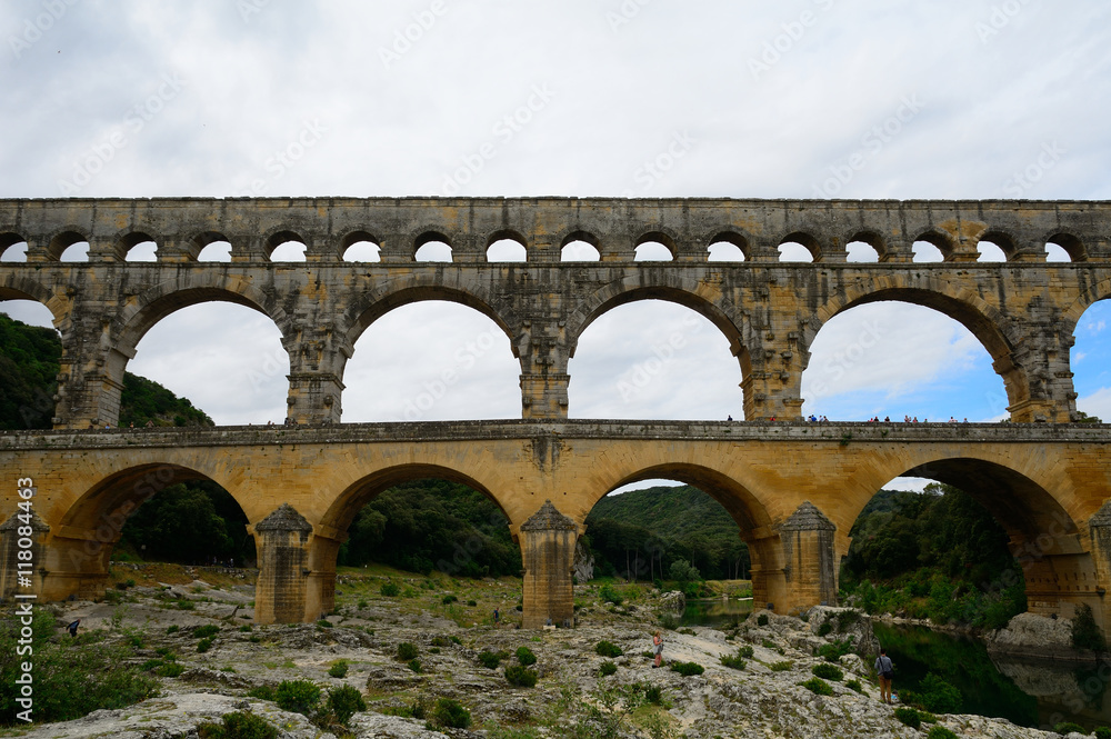
[[[512,239],[526,261],[492,263]],[[273,249],[306,244],[307,261]],[[978,263],[990,240],[1005,263]],[[1069,368],[1083,311],[1111,296],[1111,204],[1031,201],[754,201],[577,199],[0,200],[0,299],[43,303],[61,332],[54,430],[0,435],[9,510],[14,481],[38,486],[34,587],[47,598],[102,590],[119,527],[171,480],[210,478],[246,511],[259,551],[257,618],[316,617],[332,602],[336,552],[352,517],[404,479],[440,476],[482,490],[524,556],[526,622],[570,616],[569,561],[587,512],[614,487],[654,477],[720,500],[749,542],[759,601],[789,611],[835,592],[835,565],[863,505],[913,472],[977,495],[1011,536],[1032,609],[1090,602],[1111,623],[1111,508],[1105,427],[1079,426]],[[61,262],[71,244],[88,262]],[[153,241],[156,262],[128,262]],[[231,262],[199,262],[231,244]],[[342,261],[354,242],[380,262]],[[441,241],[452,263],[414,261]],[[597,262],[561,262],[587,241]],[[654,241],[668,262],[634,262]],[[744,260],[709,262],[728,241]],[[847,262],[852,241],[878,263]],[[944,256],[912,262],[929,241]],[[780,263],[798,242],[813,263]],[[1068,263],[1044,262],[1047,242]],[[359,336],[401,304],[442,299],[490,317],[521,362],[522,420],[342,425],[342,377]],[[567,419],[568,360],[609,309],[670,300],[730,340],[745,423]],[[128,360],[167,314],[224,300],[269,316],[290,357],[289,413],[301,428],[92,431],[118,418]],[[994,360],[1011,425],[800,422],[801,376],[821,327],[848,308],[900,300],[968,327]],[[777,418],[777,421],[765,419]],[[551,501],[551,505],[544,505]],[[10,593],[19,527],[0,527]]]

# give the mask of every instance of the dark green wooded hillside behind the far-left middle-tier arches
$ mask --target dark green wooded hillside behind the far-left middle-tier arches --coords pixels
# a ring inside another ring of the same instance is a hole
[[[0,429],[49,429],[61,340],[53,329],[0,313]],[[212,419],[158,382],[127,372],[120,426],[212,426]]]

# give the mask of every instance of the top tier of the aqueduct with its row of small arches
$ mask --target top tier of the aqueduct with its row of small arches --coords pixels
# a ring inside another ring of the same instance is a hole
[[[863,201],[849,208],[800,201],[807,207],[784,209],[782,201],[744,201],[747,209],[725,209],[701,201],[598,201],[594,208],[587,204],[592,201],[531,208],[513,201],[518,208],[509,209],[510,201],[474,199],[462,201],[470,210],[461,212],[464,208],[437,200],[423,207],[371,200],[328,208],[283,201],[290,204],[282,209],[272,201],[213,200],[212,212],[206,212],[198,208],[203,202],[0,200],[0,260],[397,264],[1111,259],[1111,218],[1103,222],[1111,209],[1104,203],[1081,203],[1090,206],[1083,210],[1064,208],[1069,203],[985,202],[962,209],[964,203],[952,202],[892,208],[891,201]],[[615,213],[615,202],[633,204]],[[664,207],[675,202],[685,206]],[[506,207],[496,208],[498,203]],[[359,218],[373,210],[371,206],[378,206],[378,223]]]

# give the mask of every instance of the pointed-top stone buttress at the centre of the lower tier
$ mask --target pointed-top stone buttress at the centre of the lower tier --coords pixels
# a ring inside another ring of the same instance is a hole
[[[526,629],[539,629],[549,620],[557,626],[574,623],[571,568],[578,530],[551,500],[521,525]]]

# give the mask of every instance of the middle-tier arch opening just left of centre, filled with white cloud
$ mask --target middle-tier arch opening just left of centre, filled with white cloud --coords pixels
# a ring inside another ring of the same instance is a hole
[[[473,297],[447,290],[377,302],[350,333],[343,420],[519,418],[521,364],[494,317]]]

